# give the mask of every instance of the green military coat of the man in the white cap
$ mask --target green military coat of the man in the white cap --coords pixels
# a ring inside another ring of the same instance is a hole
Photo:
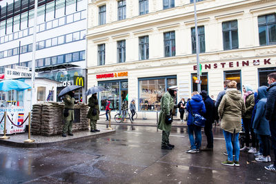
[[[170,115],[170,112],[173,112],[174,103],[173,98],[169,92],[166,92],[161,98],[161,111],[159,114],[158,128],[166,132],[170,132],[172,124],[167,124],[165,122],[166,115]]]

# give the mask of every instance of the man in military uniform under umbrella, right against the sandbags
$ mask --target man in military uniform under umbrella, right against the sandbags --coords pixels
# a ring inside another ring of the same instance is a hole
[[[63,119],[64,119],[64,126],[62,130],[62,136],[66,137],[66,133],[68,132],[69,136],[73,136],[72,134],[72,123],[75,120],[74,117],[74,105],[75,105],[75,92],[68,92],[63,97],[64,102],[64,110],[63,110]]]

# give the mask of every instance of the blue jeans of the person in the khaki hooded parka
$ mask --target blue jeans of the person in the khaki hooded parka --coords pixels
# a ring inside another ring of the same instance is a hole
[[[234,161],[239,161],[239,133],[235,134],[233,145],[232,145],[231,140],[233,139],[233,135],[234,134],[224,130],[224,139],[226,142],[228,161],[233,161],[233,146],[234,146],[234,154],[235,154]]]

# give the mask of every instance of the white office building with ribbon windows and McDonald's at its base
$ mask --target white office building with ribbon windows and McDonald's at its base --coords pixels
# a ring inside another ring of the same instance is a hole
[[[77,99],[85,98],[87,0],[39,0],[35,65],[38,77],[59,81],[52,94],[67,85],[83,85]],[[0,73],[16,65],[32,68],[34,0],[0,1]],[[78,76],[78,77],[77,77]],[[38,88],[37,100],[50,90]],[[57,99],[56,97],[54,99]]]

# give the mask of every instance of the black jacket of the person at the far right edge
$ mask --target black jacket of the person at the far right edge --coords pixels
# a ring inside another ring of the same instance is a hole
[[[276,121],[276,82],[271,83],[267,91],[266,119],[268,121]]]

